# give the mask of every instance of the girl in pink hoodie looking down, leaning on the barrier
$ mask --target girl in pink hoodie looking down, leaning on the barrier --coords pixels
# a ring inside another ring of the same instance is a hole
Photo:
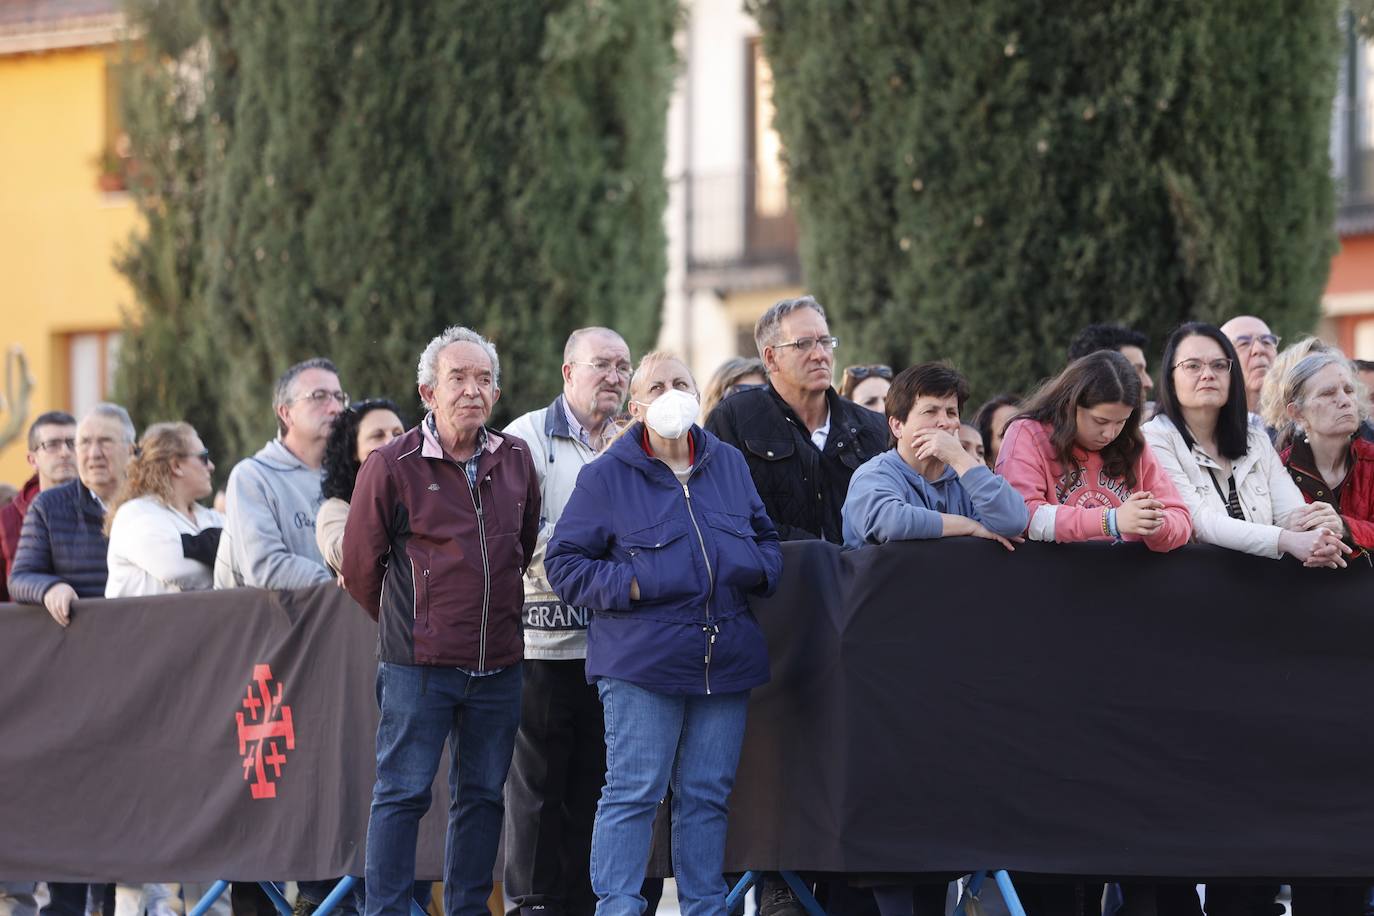
[[[1193,519],[1140,433],[1140,378],[1098,350],[1069,364],[1007,427],[998,474],[1021,493],[1032,541],[1189,542]]]

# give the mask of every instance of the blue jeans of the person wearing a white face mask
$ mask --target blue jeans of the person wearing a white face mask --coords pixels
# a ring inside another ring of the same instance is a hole
[[[606,715],[606,788],[592,827],[598,916],[644,912],[654,809],[672,784],[673,875],[683,916],[725,912],[725,813],[745,740],[749,691],[655,694],[596,681]]]

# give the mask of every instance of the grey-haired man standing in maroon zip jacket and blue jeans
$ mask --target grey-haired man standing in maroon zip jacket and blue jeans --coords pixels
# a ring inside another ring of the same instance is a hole
[[[341,574],[378,621],[376,786],[367,916],[405,916],[415,839],[444,743],[452,747],[444,911],[486,912],[521,709],[522,575],[540,490],[523,439],[486,427],[496,349],[452,327],[419,363],[430,412],[357,475]]]

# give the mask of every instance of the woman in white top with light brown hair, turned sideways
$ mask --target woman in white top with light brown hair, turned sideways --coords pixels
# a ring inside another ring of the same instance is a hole
[[[196,500],[213,492],[214,463],[190,423],[155,423],[139,441],[128,477],[104,516],[110,538],[106,597],[144,597],[207,589],[224,516]],[[115,916],[184,912],[176,884],[118,884]],[[209,884],[185,884],[191,909]],[[212,908],[228,915],[228,898]]]

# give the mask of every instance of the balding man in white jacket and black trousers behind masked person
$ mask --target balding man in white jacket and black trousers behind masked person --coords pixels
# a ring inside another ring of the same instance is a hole
[[[616,435],[631,357],[610,328],[580,328],[563,346],[563,391],[506,431],[522,438],[543,496],[525,570],[521,725],[506,783],[506,895],[511,913],[591,916],[592,821],[606,781],[600,698],[587,683],[587,608],[570,607],[544,577],[544,548],[577,474]]]

